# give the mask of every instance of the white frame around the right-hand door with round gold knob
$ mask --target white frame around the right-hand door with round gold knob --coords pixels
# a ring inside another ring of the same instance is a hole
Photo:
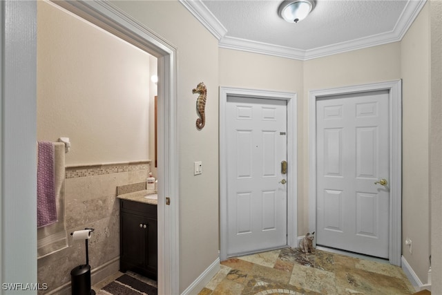
[[[309,91],[309,231],[316,231],[316,100],[334,95],[388,91],[390,129],[389,260],[401,265],[402,80]]]

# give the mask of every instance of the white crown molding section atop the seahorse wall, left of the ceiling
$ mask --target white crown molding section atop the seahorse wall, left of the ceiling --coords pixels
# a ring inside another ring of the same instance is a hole
[[[222,23],[213,15],[201,0],[179,0],[182,5],[191,12],[191,14],[206,27],[209,32],[215,36],[216,39],[221,39],[227,34],[227,29],[222,26]]]

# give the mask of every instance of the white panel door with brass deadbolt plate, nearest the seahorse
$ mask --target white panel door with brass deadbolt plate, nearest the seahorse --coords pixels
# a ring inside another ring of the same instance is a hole
[[[227,256],[287,245],[287,101],[227,97]]]

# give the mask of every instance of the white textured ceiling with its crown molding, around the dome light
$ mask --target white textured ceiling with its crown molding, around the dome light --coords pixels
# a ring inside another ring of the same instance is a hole
[[[425,0],[318,0],[298,23],[278,16],[282,0],[181,0],[220,46],[308,59],[399,41]],[[196,12],[196,13],[195,13]]]

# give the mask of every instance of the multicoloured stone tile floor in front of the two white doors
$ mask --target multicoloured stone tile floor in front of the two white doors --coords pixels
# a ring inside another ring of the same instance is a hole
[[[327,251],[278,249],[221,262],[198,295],[412,294],[401,267]]]

